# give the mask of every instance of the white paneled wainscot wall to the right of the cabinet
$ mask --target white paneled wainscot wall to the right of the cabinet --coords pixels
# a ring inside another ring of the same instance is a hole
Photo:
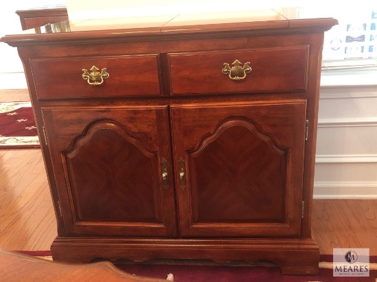
[[[377,198],[377,80],[374,83],[321,86],[315,198]]]

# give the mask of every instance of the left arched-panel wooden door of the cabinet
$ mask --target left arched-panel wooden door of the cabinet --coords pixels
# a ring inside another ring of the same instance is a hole
[[[67,234],[177,235],[167,107],[42,114]]]

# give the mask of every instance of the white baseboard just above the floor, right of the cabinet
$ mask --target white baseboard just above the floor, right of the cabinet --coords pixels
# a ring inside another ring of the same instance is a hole
[[[316,181],[314,199],[377,199],[377,181]]]

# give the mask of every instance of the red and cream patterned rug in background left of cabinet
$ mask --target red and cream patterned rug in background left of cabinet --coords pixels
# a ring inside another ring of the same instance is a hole
[[[39,147],[31,103],[0,103],[0,149]]]

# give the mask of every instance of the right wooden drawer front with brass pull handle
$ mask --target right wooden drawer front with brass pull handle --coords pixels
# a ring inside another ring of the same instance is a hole
[[[232,68],[236,60],[239,68],[250,62],[252,69],[241,71],[238,80],[233,71],[223,73],[224,63]],[[172,53],[169,61],[172,92],[177,95],[306,90],[308,46]]]

